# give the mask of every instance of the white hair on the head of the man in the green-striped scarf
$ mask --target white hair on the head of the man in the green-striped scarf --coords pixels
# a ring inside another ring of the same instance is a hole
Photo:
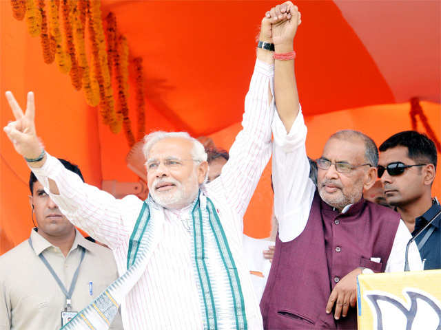
[[[145,159],[147,160],[150,150],[152,149],[152,146],[156,144],[156,142],[159,142],[164,139],[172,138],[172,137],[178,137],[181,139],[188,140],[190,142],[193,142],[193,148],[192,148],[192,158],[196,160],[197,162],[207,162],[207,153],[205,152],[205,148],[201,142],[196,140],[194,137],[191,137],[189,133],[187,132],[165,132],[165,131],[156,131],[152,132],[148,135],[145,135],[144,137],[144,146],[143,146],[143,153],[145,156]]]

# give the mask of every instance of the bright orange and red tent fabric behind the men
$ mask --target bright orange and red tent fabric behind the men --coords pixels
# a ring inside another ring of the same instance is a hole
[[[409,103],[394,103],[414,96],[422,100],[441,138],[440,2],[361,2],[296,3],[302,12],[294,45],[296,76],[311,157],[320,156],[327,136],[338,129],[360,129],[377,143],[411,129]],[[188,131],[229,148],[254,65],[254,37],[261,17],[276,4],[102,0],[103,17],[114,12],[119,33],[127,37],[130,59],[143,58],[145,131]],[[26,92],[35,92],[37,133],[48,151],[78,164],[90,184],[137,181],[125,165],[129,147],[123,133],[111,133],[97,109],[85,103],[83,92],[74,90],[70,77],[43,63],[39,38],[29,35],[25,21],[12,17],[10,1],[0,1],[0,31],[1,95],[11,90],[25,104]],[[131,78],[132,131],[134,84]],[[0,107],[0,125],[5,126],[12,114],[3,96]],[[424,131],[421,125],[418,129]],[[29,235],[32,220],[29,170],[4,133],[0,155],[1,254]],[[245,216],[249,236],[269,234],[269,174],[268,166]],[[440,190],[438,175],[433,194]]]

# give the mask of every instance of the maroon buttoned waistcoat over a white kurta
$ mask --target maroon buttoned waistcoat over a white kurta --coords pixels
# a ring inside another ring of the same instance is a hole
[[[364,199],[341,214],[316,192],[305,230],[289,242],[276,239],[260,300],[264,328],[356,329],[356,309],[340,320],[326,314],[329,295],[357,267],[384,272],[399,221],[397,212]]]

